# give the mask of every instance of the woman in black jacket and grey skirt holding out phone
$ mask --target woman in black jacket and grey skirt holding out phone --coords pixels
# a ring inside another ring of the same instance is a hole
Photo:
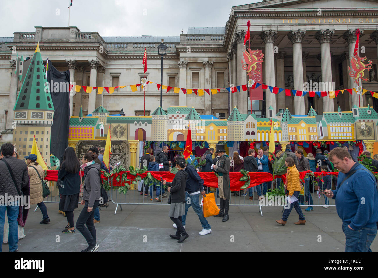
[[[163,180],[163,185],[167,185],[170,192],[170,208],[169,217],[177,225],[176,235],[169,235],[173,239],[178,239],[181,243],[189,237],[182,223],[181,216],[185,214],[185,185],[187,173],[184,171],[186,167],[185,159],[178,157],[175,161],[178,172],[172,182]]]

